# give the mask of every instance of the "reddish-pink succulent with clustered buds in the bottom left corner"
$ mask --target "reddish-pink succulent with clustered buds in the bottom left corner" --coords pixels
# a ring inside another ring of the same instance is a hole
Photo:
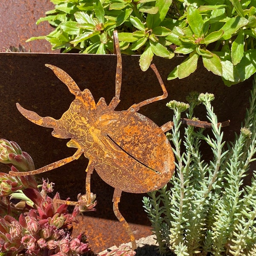
[[[0,140],[0,163],[15,172],[34,169],[29,154],[17,143],[4,139]],[[38,185],[32,175],[11,177],[0,173],[0,254],[80,256],[90,251],[84,233],[76,238],[71,236],[79,207],[70,214],[68,205],[59,203],[58,193],[49,197],[53,185],[48,180]],[[91,197],[94,206],[95,196]],[[92,205],[87,206],[90,209],[84,207],[84,211],[92,210]]]

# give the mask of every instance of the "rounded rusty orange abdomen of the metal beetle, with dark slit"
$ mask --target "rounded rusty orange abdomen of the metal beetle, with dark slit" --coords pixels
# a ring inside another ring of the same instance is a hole
[[[105,144],[109,154],[95,166],[96,172],[106,183],[125,192],[143,193],[164,186],[175,169],[165,134],[140,113],[119,112],[119,117],[120,122],[108,125]]]

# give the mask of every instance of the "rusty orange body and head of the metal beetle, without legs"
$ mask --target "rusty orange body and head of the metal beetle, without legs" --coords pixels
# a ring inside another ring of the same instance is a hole
[[[18,108],[35,122],[29,117],[32,111]],[[169,141],[160,127],[132,107],[114,111],[103,98],[95,104],[90,91],[85,89],[61,119],[41,120],[44,122],[36,123],[54,128],[54,137],[71,138],[69,147],[84,149],[84,156],[91,160],[102,180],[114,188],[150,192],[172,177],[174,156]]]

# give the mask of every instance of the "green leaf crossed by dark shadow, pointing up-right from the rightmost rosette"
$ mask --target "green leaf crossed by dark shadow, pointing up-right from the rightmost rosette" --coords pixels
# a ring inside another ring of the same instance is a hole
[[[243,17],[233,17],[224,24],[221,30],[224,30],[224,34],[221,40],[230,39],[242,26],[245,26],[248,20]]]

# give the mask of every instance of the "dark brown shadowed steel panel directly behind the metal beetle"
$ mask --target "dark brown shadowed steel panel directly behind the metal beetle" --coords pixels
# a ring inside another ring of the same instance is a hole
[[[215,112],[220,121],[230,119],[230,127],[224,129],[232,138],[233,131],[239,131],[244,117],[247,105],[245,99],[248,99],[251,81],[228,88],[218,76],[200,67],[187,79],[166,81],[170,70],[182,60],[182,57],[172,60],[154,58],[153,62],[163,77],[169,96],[165,100],[142,107],[140,113],[161,126],[172,119],[172,111],[166,107],[169,100],[185,101],[186,95],[192,90],[214,93]],[[162,93],[153,71],[140,70],[139,56],[122,56],[122,61],[121,101],[117,110],[126,110],[134,103],[143,102]],[[115,55],[0,53],[0,137],[19,143],[32,156],[36,168],[69,157],[75,152],[74,149],[66,147],[68,140],[53,138],[52,129],[41,128],[27,121],[15,105],[16,102],[22,103],[24,108],[31,109],[40,116],[52,116],[55,119],[59,119],[67,111],[74,96],[70,95],[67,87],[44,66],[46,63],[67,71],[80,90],[90,90],[96,102],[100,97],[104,97],[109,104],[115,95]],[[204,113],[200,110],[197,116],[202,119]],[[61,193],[63,199],[71,195],[71,199],[76,200],[76,195],[84,192],[86,166],[86,160],[81,158],[48,172],[47,177],[55,182],[55,190]],[[113,189],[101,181],[96,173],[92,175],[91,186],[94,188],[93,192],[98,195],[98,205],[97,212],[89,215],[114,219],[111,202]],[[141,204],[139,202],[142,196],[137,196],[122,195],[121,207],[124,208],[120,210],[125,213],[124,217],[128,222],[147,224],[142,207],[137,207]],[[134,215],[134,207],[136,212],[141,212]],[[140,215],[144,218],[139,220]]]

